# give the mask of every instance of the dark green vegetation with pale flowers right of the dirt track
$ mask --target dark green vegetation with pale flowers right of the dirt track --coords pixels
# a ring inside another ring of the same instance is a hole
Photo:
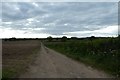
[[[120,76],[120,38],[96,38],[47,42],[45,45],[75,60]]]

